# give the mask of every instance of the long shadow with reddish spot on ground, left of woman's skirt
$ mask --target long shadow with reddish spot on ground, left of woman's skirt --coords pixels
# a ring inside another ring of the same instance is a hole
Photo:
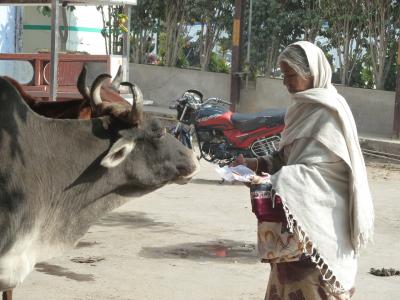
[[[145,258],[181,258],[253,264],[259,261],[254,244],[231,240],[186,243],[167,247],[144,247],[139,253]]]

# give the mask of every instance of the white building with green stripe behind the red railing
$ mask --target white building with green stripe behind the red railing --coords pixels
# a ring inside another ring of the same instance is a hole
[[[0,53],[50,51],[51,18],[43,16],[38,7],[0,5]],[[108,21],[108,6],[104,6],[104,13],[106,20],[103,20],[102,13],[95,4],[76,5],[73,11],[67,10],[68,51],[103,55],[107,53],[106,41],[101,32],[104,21]],[[59,18],[62,22],[61,10]],[[113,56],[111,60],[111,74],[115,74],[122,64],[122,57]],[[106,70],[101,67],[101,71]],[[8,75],[21,83],[27,83],[32,79],[33,69],[28,62],[0,60],[0,75]]]

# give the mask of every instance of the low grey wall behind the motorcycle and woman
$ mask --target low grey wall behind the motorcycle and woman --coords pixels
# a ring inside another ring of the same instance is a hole
[[[167,107],[187,89],[197,89],[205,97],[229,99],[230,75],[169,67],[130,64],[130,80],[140,86],[146,100]],[[392,135],[395,93],[337,86],[354,114],[361,134]],[[280,79],[258,78],[242,89],[240,112],[269,107],[288,107],[290,94]]]

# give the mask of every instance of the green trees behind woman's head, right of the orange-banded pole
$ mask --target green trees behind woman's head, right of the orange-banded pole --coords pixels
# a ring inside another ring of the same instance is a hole
[[[334,54],[338,83],[392,89],[399,6],[395,0],[253,0],[248,68],[269,76],[285,46],[308,40]]]

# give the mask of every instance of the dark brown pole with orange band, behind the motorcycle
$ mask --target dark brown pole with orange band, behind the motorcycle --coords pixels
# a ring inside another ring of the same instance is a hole
[[[240,100],[240,50],[243,33],[243,11],[246,0],[235,0],[235,16],[233,19],[232,34],[232,66],[231,66],[231,110],[236,111]]]

